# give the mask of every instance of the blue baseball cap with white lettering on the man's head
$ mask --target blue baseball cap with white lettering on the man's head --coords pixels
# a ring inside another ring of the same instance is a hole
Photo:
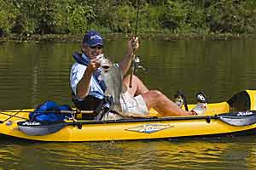
[[[88,31],[83,37],[83,43],[86,43],[90,47],[93,47],[96,45],[103,46],[102,37],[97,31]]]

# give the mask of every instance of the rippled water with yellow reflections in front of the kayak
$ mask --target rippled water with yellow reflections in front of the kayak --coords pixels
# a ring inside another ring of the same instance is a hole
[[[0,144],[6,169],[250,169],[255,139]]]

